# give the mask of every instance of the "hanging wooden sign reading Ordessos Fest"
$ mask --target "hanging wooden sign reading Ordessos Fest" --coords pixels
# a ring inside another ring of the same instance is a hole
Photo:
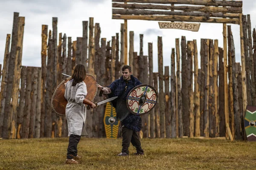
[[[198,31],[200,24],[198,23],[170,23],[170,22],[158,22],[159,27],[163,29],[183,29],[188,31]]]

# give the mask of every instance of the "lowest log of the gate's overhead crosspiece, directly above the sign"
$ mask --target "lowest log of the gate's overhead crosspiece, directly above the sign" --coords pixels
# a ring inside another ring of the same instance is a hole
[[[152,21],[183,21],[183,22],[200,22],[200,23],[230,23],[239,24],[239,19],[227,18],[207,18],[207,17],[192,17],[192,16],[154,16],[154,15],[117,15],[113,14],[112,19],[117,20],[152,20]]]

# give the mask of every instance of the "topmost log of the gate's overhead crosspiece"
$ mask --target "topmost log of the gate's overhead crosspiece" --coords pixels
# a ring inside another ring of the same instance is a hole
[[[204,5],[204,6],[233,6],[242,7],[242,1],[222,1],[222,0],[112,0],[118,3],[163,3],[163,4],[189,4],[189,5]]]

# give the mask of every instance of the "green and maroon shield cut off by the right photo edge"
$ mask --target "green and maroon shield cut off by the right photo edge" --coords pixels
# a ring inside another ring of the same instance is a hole
[[[247,106],[244,115],[244,129],[247,141],[256,141],[256,106]]]

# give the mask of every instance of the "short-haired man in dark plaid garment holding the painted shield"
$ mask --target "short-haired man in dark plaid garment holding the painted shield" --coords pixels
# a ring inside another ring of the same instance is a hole
[[[103,88],[98,85],[101,89],[102,94],[108,95],[108,97],[118,96],[117,99],[111,101],[114,108],[116,108],[116,119],[120,120],[122,127],[122,152],[118,156],[128,156],[129,146],[131,144],[136,147],[137,152],[135,155],[144,155],[144,151],[140,144],[140,137],[137,132],[142,128],[141,117],[132,114],[126,105],[126,98],[134,87],[141,85],[142,83],[132,75],[131,67],[124,65],[122,67],[122,77],[115,80],[108,87]]]

